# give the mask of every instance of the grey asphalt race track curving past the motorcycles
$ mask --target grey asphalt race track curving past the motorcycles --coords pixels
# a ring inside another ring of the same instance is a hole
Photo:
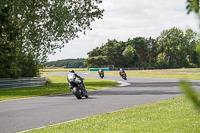
[[[98,75],[78,74],[84,78]],[[52,73],[63,75],[67,73]],[[0,102],[0,133],[13,133],[75,119],[121,110],[137,105],[179,97],[178,79],[106,76],[109,80],[126,82],[122,86],[89,91],[88,99],[77,100],[72,94],[42,96]],[[200,90],[199,81],[190,81]],[[87,86],[86,86],[87,88]]]

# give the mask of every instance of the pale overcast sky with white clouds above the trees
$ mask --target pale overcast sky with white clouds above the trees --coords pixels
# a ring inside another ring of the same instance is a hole
[[[186,0],[103,0],[103,19],[92,23],[92,31],[65,44],[65,47],[49,55],[49,61],[87,58],[87,53],[105,44],[108,39],[127,41],[134,37],[156,39],[163,30],[173,27],[185,31],[198,31],[194,14],[187,15]]]

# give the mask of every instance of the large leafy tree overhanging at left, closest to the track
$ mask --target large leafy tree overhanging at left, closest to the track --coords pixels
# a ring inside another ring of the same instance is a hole
[[[103,10],[97,6],[101,2],[1,0],[0,60],[3,64],[0,69],[8,74],[0,74],[0,77],[22,76],[19,66],[22,55],[32,54],[33,61],[43,62],[47,54],[63,48],[65,43],[78,37],[79,32],[91,30],[91,22],[102,18]]]

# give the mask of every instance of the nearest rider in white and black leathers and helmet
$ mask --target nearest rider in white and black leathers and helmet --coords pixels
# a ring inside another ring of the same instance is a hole
[[[78,78],[78,79],[76,79],[76,78]],[[81,83],[83,85],[83,89],[84,89],[84,91],[86,91],[83,79],[84,78],[82,78],[81,76],[76,74],[74,70],[70,70],[68,75],[67,75],[67,80],[68,80],[68,83],[69,83],[69,90],[72,91],[73,88],[74,88],[74,86],[73,86],[73,84],[71,84],[71,82],[78,82],[78,83]]]

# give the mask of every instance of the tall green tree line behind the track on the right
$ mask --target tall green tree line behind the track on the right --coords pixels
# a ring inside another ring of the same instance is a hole
[[[197,33],[191,29],[185,32],[179,28],[163,30],[156,38],[135,37],[127,41],[108,42],[88,52],[85,64],[88,67],[145,67],[179,68],[198,67],[196,46]]]

